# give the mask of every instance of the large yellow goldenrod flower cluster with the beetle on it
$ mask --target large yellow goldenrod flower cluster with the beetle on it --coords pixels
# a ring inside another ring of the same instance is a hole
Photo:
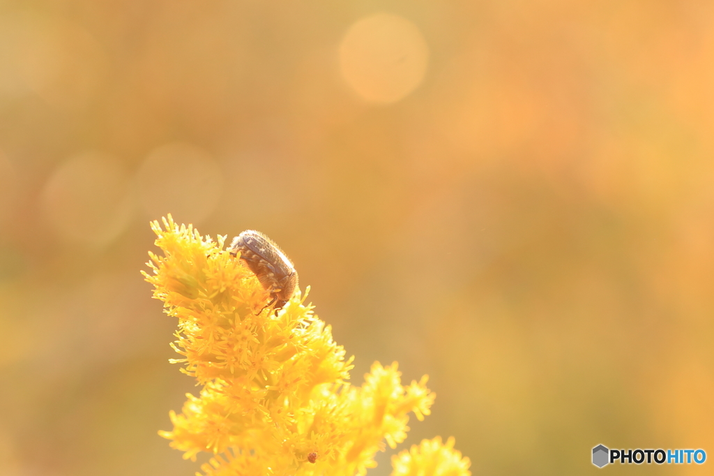
[[[401,385],[397,364],[372,365],[362,387],[348,382],[352,358],[298,291],[281,309],[263,309],[268,293],[226,237],[201,237],[171,215],[152,222],[164,257],[149,253],[154,297],[178,317],[172,347],[181,371],[203,388],[187,395],[174,430],[159,432],[203,465],[206,475],[364,475],[384,440],[408,431],[408,414],[429,415],[427,377]],[[309,290],[309,288],[308,288]]]

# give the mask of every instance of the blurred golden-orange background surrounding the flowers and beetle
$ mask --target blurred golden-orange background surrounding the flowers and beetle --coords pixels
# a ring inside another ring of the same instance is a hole
[[[712,457],[713,128],[703,1],[4,1],[0,474],[198,470],[156,435],[197,390],[139,274],[167,212],[276,240],[357,385],[431,376],[399,449]]]

